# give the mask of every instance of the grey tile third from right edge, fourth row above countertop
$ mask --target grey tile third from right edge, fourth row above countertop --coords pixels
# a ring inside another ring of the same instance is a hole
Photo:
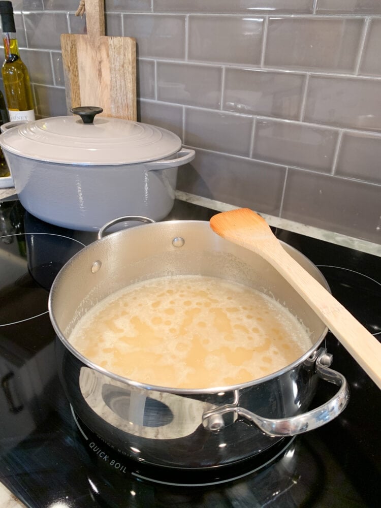
[[[263,18],[251,16],[189,16],[189,60],[258,65]]]

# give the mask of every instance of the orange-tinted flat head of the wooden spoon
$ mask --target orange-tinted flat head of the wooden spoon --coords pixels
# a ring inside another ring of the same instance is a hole
[[[249,208],[217,213],[209,222],[217,235],[250,250],[256,251],[258,242],[278,243],[266,220]]]

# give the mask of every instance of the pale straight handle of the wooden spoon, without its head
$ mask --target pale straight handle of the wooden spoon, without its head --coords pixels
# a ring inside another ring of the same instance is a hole
[[[378,388],[381,388],[381,343],[304,270],[280,243],[276,248],[266,249],[266,259],[290,282]]]

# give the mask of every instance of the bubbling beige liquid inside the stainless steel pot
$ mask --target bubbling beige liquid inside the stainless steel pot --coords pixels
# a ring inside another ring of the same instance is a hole
[[[193,275],[151,279],[114,293],[82,317],[69,340],[111,372],[189,389],[263,377],[312,345],[304,326],[271,297]]]

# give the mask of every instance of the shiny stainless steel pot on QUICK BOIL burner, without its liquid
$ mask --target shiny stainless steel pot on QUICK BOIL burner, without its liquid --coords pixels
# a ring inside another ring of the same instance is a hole
[[[326,285],[308,259],[283,246]],[[108,372],[68,341],[82,315],[106,296],[141,280],[181,274],[222,277],[274,295],[309,328],[313,346],[293,364],[261,379],[185,390]],[[261,453],[283,436],[329,422],[348,401],[345,378],[329,368],[330,355],[321,347],[325,325],[267,262],[215,235],[208,222],[147,224],[90,244],[56,277],[49,313],[59,338],[61,382],[76,414],[111,446],[138,461],[176,468],[231,464]],[[319,377],[340,388],[326,404],[308,411]]]

